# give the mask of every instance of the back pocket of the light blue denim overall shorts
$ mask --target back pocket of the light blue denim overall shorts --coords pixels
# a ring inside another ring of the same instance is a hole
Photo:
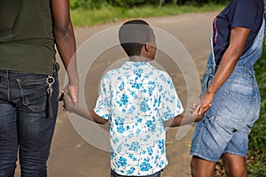
[[[227,81],[216,119],[223,127],[238,130],[253,119],[255,106],[256,91],[252,85]]]

